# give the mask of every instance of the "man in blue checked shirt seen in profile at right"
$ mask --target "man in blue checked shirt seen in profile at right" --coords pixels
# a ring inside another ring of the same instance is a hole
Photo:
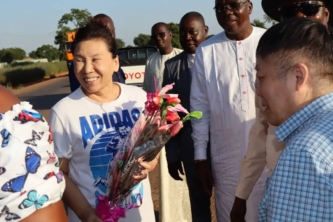
[[[256,90],[285,142],[259,221],[333,221],[333,36],[309,18],[281,22],[257,47]]]

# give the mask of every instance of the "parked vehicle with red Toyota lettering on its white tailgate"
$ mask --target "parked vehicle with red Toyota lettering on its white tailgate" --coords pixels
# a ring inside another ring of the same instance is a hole
[[[118,49],[120,67],[128,85],[142,87],[147,58],[159,51],[155,46],[138,46]]]

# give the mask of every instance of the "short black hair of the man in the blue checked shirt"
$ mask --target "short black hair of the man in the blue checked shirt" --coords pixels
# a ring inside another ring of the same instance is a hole
[[[282,79],[303,63],[313,80],[333,82],[332,33],[313,19],[292,18],[272,26],[260,38],[256,55],[274,64]]]

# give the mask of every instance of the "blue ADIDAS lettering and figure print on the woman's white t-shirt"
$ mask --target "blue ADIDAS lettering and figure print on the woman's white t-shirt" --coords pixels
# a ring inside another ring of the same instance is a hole
[[[80,117],[83,145],[85,150],[90,150],[89,165],[95,180],[92,184],[95,190],[91,192],[94,192],[96,197],[105,195],[112,160],[139,116],[140,111],[132,109]],[[126,208],[137,202],[138,193],[143,197],[142,182],[134,187],[121,207]],[[95,202],[98,203],[97,198]]]

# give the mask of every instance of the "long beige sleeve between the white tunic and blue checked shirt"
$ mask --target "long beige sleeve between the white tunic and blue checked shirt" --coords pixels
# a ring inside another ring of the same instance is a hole
[[[255,96],[256,119],[249,133],[246,156],[240,165],[236,197],[247,200],[266,165],[268,122],[263,113],[260,97]]]

